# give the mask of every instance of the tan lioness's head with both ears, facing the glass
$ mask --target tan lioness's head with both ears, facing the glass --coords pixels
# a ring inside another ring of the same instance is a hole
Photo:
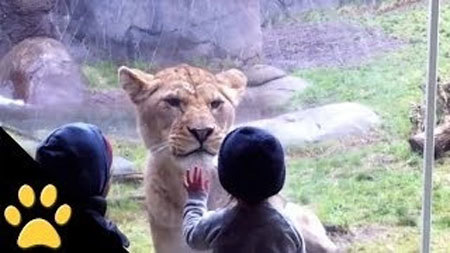
[[[236,69],[213,75],[188,65],[155,75],[121,67],[119,79],[136,105],[146,146],[177,160],[217,154],[247,83]]]

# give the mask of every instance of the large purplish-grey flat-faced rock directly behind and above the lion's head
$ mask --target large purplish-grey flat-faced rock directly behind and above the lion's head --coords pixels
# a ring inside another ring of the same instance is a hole
[[[258,58],[259,14],[259,0],[64,0],[54,16],[78,53],[192,62]]]

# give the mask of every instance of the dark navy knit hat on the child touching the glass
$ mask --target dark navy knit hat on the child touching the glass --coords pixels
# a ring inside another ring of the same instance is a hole
[[[284,152],[270,133],[255,127],[237,128],[219,152],[219,180],[233,197],[256,204],[284,185]]]

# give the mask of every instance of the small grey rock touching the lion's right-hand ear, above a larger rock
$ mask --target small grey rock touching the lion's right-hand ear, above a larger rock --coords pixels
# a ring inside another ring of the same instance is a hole
[[[257,64],[244,69],[244,74],[248,80],[248,87],[260,86],[286,76],[286,72],[283,70],[264,64]]]

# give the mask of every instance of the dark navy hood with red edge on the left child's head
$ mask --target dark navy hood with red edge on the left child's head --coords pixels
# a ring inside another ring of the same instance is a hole
[[[102,195],[107,188],[110,151],[97,126],[78,122],[54,130],[39,145],[36,161],[72,197],[86,198]]]

